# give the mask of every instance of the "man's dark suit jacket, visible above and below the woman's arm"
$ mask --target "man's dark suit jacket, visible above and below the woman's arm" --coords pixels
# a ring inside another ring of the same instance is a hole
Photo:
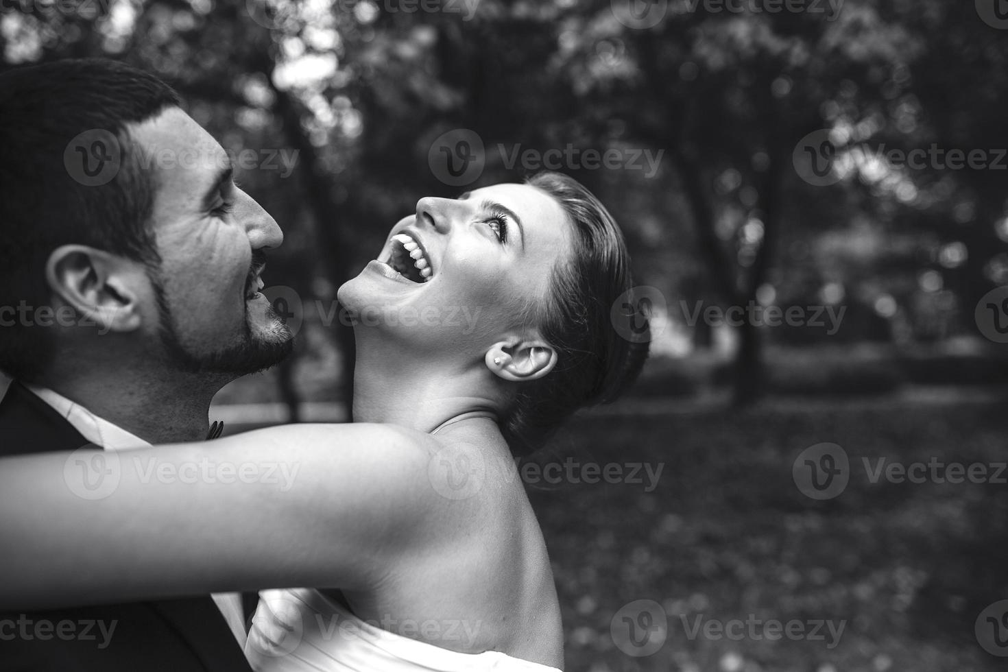
[[[0,402],[0,456],[85,445],[88,441],[52,407],[11,383]],[[61,623],[68,621],[73,626]],[[67,637],[72,632],[78,636]],[[0,614],[0,671],[8,670],[250,672],[210,595]]]

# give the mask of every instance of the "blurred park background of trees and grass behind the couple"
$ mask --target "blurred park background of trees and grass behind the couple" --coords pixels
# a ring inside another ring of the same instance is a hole
[[[0,0],[0,47],[5,69],[107,56],[157,74],[284,229],[265,280],[296,355],[220,394],[230,430],[347,419],[336,289],[420,196],[551,167],[607,204],[648,288],[652,357],[536,459],[663,472],[649,492],[529,486],[569,669],[994,670],[1003,4]],[[825,442],[849,483],[815,498],[795,464]],[[989,471],[872,478],[880,458]],[[834,646],[825,628],[686,627],[750,617],[846,626]]]

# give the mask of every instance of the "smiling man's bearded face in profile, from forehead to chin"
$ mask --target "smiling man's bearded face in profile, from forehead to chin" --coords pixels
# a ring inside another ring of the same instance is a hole
[[[283,232],[235,185],[221,145],[180,109],[131,135],[155,193],[151,225],[161,264],[150,276],[169,362],[235,375],[278,363],[293,337],[259,293],[258,276]]]

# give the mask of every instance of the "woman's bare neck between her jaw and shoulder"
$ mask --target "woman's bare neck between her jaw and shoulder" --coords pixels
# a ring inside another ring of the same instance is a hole
[[[358,340],[353,419],[430,432],[475,411],[499,416],[492,376],[478,368],[410,358],[401,349],[362,347]]]

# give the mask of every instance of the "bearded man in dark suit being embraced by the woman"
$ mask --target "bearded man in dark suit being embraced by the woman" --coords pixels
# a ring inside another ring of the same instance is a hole
[[[258,291],[283,234],[179,106],[111,60],[0,76],[0,455],[203,439],[289,354]],[[247,671],[245,621],[236,593],[0,615],[0,669]]]

